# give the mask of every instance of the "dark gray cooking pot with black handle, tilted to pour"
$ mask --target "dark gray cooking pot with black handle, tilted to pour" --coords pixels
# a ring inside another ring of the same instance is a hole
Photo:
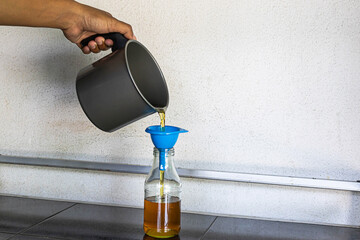
[[[112,53],[83,68],[76,78],[76,92],[90,121],[106,132],[115,131],[169,104],[164,76],[151,53],[140,42],[120,33],[98,34],[112,39]]]

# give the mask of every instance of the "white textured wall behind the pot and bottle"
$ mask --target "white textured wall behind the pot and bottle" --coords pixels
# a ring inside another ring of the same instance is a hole
[[[190,130],[176,146],[177,166],[360,179],[359,1],[82,2],[131,23],[158,60],[170,89],[167,123]],[[78,104],[77,72],[104,54],[83,55],[59,30],[0,27],[0,41],[1,154],[150,164],[152,146],[144,129],[157,124],[157,116],[108,134],[93,127]],[[72,194],[56,191],[53,174],[47,176],[54,187],[41,189],[39,179],[30,176],[45,169],[16,171],[6,173],[9,179],[0,184],[0,192],[83,200],[71,185]],[[38,187],[9,188],[22,171],[29,174],[27,183]],[[73,181],[81,176],[92,174],[69,175]],[[85,179],[94,188],[104,186],[96,177]],[[115,178],[106,179],[116,186]],[[141,188],[139,182],[133,184]],[[236,189],[243,186],[253,191],[245,194],[253,200],[266,193],[274,204],[300,204],[296,206],[309,212],[282,215],[273,209],[260,214],[257,206],[243,212],[231,204],[229,209],[211,204],[200,211],[360,225],[353,214],[358,195],[334,192],[326,205],[329,195],[321,191],[316,195],[320,202],[311,204],[311,198],[294,200],[311,196],[311,191],[303,193],[307,190],[221,182],[201,186],[212,190],[222,185],[229,192],[217,200],[228,201],[230,189],[231,197],[241,199],[242,190]],[[130,186],[124,187],[129,191]],[[116,201],[127,204],[128,195],[116,194]],[[84,196],[116,202],[106,194]],[[186,196],[196,202],[203,195]],[[288,202],[286,196],[292,196]],[[324,215],[329,212],[331,216]]]

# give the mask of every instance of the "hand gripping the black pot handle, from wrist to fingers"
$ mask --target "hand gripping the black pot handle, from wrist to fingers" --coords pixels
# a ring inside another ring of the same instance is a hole
[[[128,39],[135,39],[132,27],[112,17],[110,13],[78,3],[76,14],[72,15],[72,21],[62,29],[65,37],[75,43],[83,53],[98,53],[108,50],[113,45],[111,39],[99,36],[95,41],[90,41],[87,46],[81,46],[80,42],[92,35],[120,32]]]

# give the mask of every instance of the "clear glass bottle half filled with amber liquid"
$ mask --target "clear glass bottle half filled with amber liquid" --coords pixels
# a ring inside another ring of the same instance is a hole
[[[165,159],[161,165],[160,154]],[[145,180],[144,197],[144,231],[151,237],[170,238],[180,232],[181,182],[173,157],[174,148],[159,150],[154,147],[154,160]]]

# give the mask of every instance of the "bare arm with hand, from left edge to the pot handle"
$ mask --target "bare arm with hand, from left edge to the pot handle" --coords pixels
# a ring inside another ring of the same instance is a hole
[[[136,39],[129,24],[74,0],[0,0],[0,25],[59,28],[84,53],[97,53],[113,45],[111,39],[101,36],[81,45],[83,39],[96,33],[119,32]]]

